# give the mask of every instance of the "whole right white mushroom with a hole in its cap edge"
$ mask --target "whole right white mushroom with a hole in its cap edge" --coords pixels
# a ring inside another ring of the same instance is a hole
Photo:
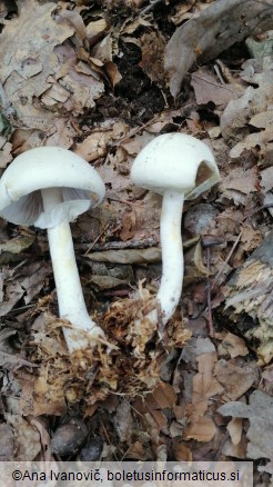
[[[172,317],[182,291],[184,262],[181,218],[184,199],[194,199],[220,181],[210,148],[184,133],[164,133],[148,143],[131,170],[132,181],[163,195],[160,241],[162,279],[156,295],[163,325]],[[149,314],[159,319],[156,310]]]

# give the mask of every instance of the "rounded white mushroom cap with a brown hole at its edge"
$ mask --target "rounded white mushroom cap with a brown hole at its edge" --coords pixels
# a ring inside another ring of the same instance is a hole
[[[135,158],[132,181],[142,188],[163,195],[165,190],[183,192],[194,199],[220,181],[211,149],[185,133],[163,133]]]

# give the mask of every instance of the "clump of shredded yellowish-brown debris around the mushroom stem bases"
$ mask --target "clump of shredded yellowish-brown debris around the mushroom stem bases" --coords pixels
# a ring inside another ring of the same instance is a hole
[[[44,405],[44,413],[52,407],[58,411],[62,410],[64,399],[69,402],[84,399],[87,405],[93,405],[111,391],[135,396],[153,390],[165,355],[156,324],[146,317],[154,306],[150,296],[113,302],[101,318],[108,341],[90,344],[82,357],[80,352],[70,356],[63,342],[61,327],[70,324],[44,315],[43,329],[32,340],[36,344],[32,359],[40,368],[29,407],[41,411]],[[170,322],[166,334],[168,347],[181,346],[190,338],[189,331],[175,320]]]

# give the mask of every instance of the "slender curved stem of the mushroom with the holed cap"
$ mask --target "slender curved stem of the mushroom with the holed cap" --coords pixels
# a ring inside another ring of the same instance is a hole
[[[163,314],[162,321],[164,325],[174,314],[182,291],[184,259],[181,219],[183,203],[183,192],[164,191],[160,221],[162,279],[156,295]]]

